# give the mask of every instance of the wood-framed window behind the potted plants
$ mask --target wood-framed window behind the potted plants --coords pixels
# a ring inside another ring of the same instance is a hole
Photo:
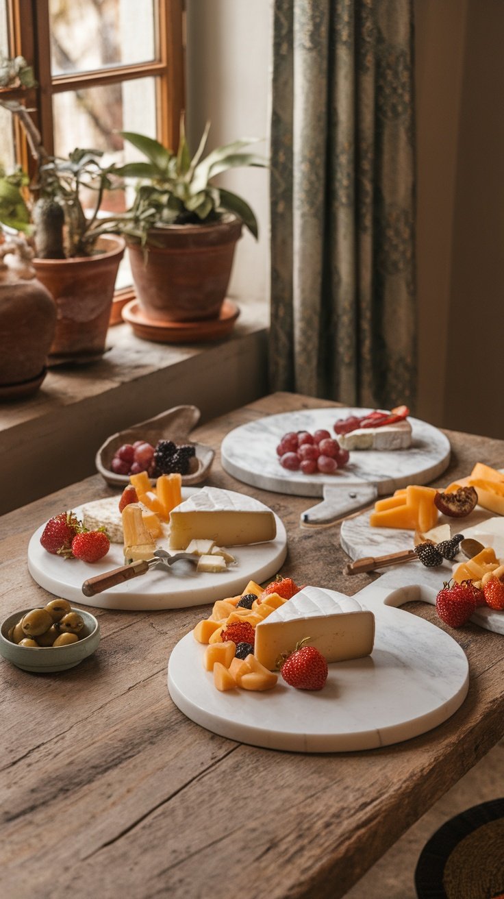
[[[183,0],[0,0],[0,50],[33,66],[26,105],[51,154],[75,147],[119,165],[136,158],[119,131],[177,147],[183,106]],[[11,92],[13,96],[18,92]],[[0,162],[31,171],[19,124],[0,110]],[[119,211],[112,191],[104,211]]]

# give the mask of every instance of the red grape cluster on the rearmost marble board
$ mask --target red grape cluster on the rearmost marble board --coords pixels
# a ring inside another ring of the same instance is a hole
[[[329,431],[289,431],[277,447],[280,465],[304,475],[333,475],[349,461],[349,450],[341,449]]]

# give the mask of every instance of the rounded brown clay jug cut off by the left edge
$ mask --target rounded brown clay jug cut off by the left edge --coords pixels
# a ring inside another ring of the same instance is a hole
[[[56,306],[21,237],[0,245],[0,399],[30,396],[46,376]]]

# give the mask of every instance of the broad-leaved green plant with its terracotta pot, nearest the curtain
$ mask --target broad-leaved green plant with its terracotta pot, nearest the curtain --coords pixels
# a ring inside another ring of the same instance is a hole
[[[250,206],[212,179],[241,165],[265,165],[236,140],[203,157],[209,124],[194,156],[185,138],[175,154],[159,141],[123,131],[144,156],[115,170],[137,179],[133,205],[120,221],[126,236],[137,300],[146,316],[191,322],[219,316],[243,225],[257,238]]]

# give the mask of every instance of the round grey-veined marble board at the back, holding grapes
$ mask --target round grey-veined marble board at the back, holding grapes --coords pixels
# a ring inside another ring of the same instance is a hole
[[[301,471],[287,471],[280,465],[277,446],[287,431],[314,433],[325,429],[336,437],[332,426],[337,419],[371,411],[355,407],[300,409],[242,424],[226,434],[222,441],[222,467],[244,484],[296,496],[322,496],[324,485],[349,487],[362,484],[376,485],[379,494],[390,494],[413,481],[427,484],[445,470],[450,459],[447,437],[431,424],[410,416],[409,449],[386,452],[353,449],[349,464],[334,475],[304,475]]]

